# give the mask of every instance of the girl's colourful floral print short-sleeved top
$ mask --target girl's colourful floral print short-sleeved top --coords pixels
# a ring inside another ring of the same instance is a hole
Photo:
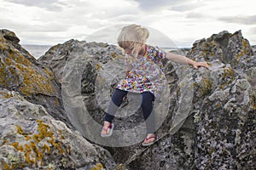
[[[121,80],[116,88],[133,93],[150,92],[159,97],[166,84],[162,59],[166,53],[160,48],[146,45],[146,53],[139,59],[125,55],[125,66],[128,75]]]

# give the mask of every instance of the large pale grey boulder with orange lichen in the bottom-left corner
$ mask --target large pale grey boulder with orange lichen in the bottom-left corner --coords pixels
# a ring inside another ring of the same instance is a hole
[[[114,167],[107,150],[55,120],[42,105],[0,90],[1,169],[92,169]]]

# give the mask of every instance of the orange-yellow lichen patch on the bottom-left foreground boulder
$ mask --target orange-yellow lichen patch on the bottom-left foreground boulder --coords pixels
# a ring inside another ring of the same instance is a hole
[[[22,167],[41,167],[46,162],[44,162],[44,156],[52,155],[53,153],[58,153],[60,156],[67,156],[70,154],[70,147],[65,146],[62,139],[56,140],[55,135],[59,136],[62,134],[59,130],[58,133],[54,133],[51,127],[44,123],[42,120],[37,121],[37,131],[35,132],[25,132],[25,130],[19,125],[15,125],[17,129],[17,134],[24,136],[25,141],[10,141],[7,139],[4,144],[13,146],[16,153],[22,153],[24,156],[24,162],[20,161],[4,161],[5,167],[9,169],[22,168]],[[66,149],[67,148],[67,149]],[[22,160],[22,159],[20,159]],[[49,163],[49,162],[47,162]]]

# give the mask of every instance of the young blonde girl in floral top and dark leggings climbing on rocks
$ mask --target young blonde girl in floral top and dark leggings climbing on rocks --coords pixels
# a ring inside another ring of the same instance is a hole
[[[102,137],[112,135],[113,115],[122,104],[125,95],[128,92],[138,93],[142,95],[141,108],[147,127],[147,136],[143,141],[143,146],[154,144],[157,136],[154,134],[156,129],[154,129],[153,102],[155,98],[160,97],[160,92],[166,83],[161,60],[171,59],[179,64],[192,65],[195,69],[199,66],[209,67],[207,63],[195,62],[182,55],[166,53],[160,48],[146,44],[148,36],[148,29],[137,25],[125,26],[119,34],[119,47],[123,48],[126,54],[126,77],[115,88],[104,118]]]

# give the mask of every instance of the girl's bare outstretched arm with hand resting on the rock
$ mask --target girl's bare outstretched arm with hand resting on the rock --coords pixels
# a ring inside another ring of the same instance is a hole
[[[166,53],[166,58],[172,60],[173,62],[183,64],[183,65],[192,65],[195,69],[198,69],[199,66],[209,68],[206,62],[196,62],[192,59],[189,59],[183,55]]]

